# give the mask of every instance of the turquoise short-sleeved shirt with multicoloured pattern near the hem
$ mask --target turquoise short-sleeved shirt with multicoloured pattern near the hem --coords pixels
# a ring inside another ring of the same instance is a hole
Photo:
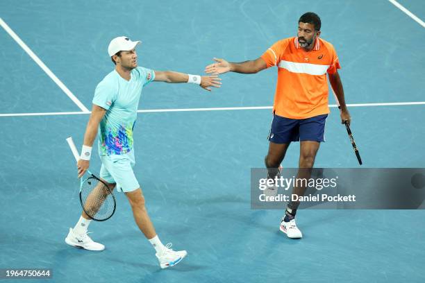
[[[142,89],[155,79],[151,69],[137,67],[131,79],[112,71],[97,85],[93,104],[106,109],[99,123],[99,155],[121,155],[133,149],[133,128]]]

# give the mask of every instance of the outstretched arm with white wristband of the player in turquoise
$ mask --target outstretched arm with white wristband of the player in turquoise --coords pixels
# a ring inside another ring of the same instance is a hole
[[[200,85],[203,89],[211,91],[210,87],[220,87],[221,78],[218,76],[195,76],[190,74],[178,73],[176,71],[155,71],[156,82],[165,83],[194,83]]]

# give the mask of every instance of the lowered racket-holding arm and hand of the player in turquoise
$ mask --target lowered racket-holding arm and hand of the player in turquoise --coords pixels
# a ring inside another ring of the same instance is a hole
[[[99,123],[101,119],[103,119],[103,116],[106,114],[106,109],[101,108],[98,105],[93,104],[92,107],[92,114],[90,114],[90,119],[87,123],[87,128],[85,129],[84,134],[84,146],[92,147],[94,143],[94,139],[97,135],[97,128],[99,127]],[[89,160],[78,160],[77,162],[77,168],[78,168],[78,178],[81,178],[85,171],[87,171],[88,167],[90,165]]]

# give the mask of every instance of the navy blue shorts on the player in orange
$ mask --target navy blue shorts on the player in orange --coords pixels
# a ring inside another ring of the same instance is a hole
[[[307,119],[289,119],[274,114],[268,139],[275,144],[289,144],[291,141],[325,141],[326,117],[328,114]]]

